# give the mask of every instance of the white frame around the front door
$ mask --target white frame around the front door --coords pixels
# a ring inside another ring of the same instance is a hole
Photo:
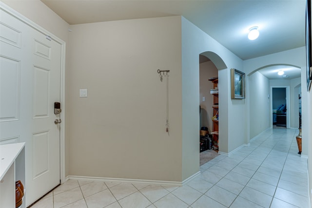
[[[13,10],[6,4],[0,1],[0,9],[4,12],[7,12],[14,16],[17,19],[20,19],[23,23],[29,25],[30,27],[34,28],[35,30],[39,31],[45,36],[49,36],[56,42],[61,45],[61,67],[60,67],[60,103],[62,108],[62,113],[60,113],[60,119],[62,122],[60,125],[60,135],[59,135],[59,150],[60,150],[60,183],[65,182],[65,54],[66,54],[66,42],[61,40],[60,38],[56,37],[49,31],[45,30],[32,20],[22,16],[17,11]]]

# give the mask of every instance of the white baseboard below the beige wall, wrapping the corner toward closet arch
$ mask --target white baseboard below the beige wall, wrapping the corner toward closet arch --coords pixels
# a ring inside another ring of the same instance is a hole
[[[89,177],[89,176],[78,176],[69,175],[66,177],[67,180],[83,180],[83,181],[103,181],[103,182],[114,182],[114,183],[129,183],[129,184],[148,184],[148,185],[161,185],[161,186],[176,186],[181,187],[195,178],[200,174],[200,171],[191,175],[182,182],[179,181],[158,181],[158,180],[140,180],[140,179],[127,179],[127,178],[105,178],[105,177]]]

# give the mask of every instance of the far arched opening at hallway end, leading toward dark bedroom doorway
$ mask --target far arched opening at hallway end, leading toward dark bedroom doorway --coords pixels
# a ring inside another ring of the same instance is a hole
[[[278,75],[279,71],[284,75]],[[300,77],[301,68],[290,64],[270,64],[248,74],[250,138],[275,125],[298,128],[298,104],[295,103]],[[277,95],[284,93],[284,99],[276,98],[276,92]]]

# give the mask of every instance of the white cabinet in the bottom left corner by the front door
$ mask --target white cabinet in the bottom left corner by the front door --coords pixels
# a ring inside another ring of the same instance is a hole
[[[0,145],[0,208],[15,208],[15,182],[24,185],[25,208],[25,143]]]

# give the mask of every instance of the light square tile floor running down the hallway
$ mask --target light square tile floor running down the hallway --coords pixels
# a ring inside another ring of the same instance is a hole
[[[309,208],[298,130],[270,129],[183,187],[68,180],[32,208]]]

